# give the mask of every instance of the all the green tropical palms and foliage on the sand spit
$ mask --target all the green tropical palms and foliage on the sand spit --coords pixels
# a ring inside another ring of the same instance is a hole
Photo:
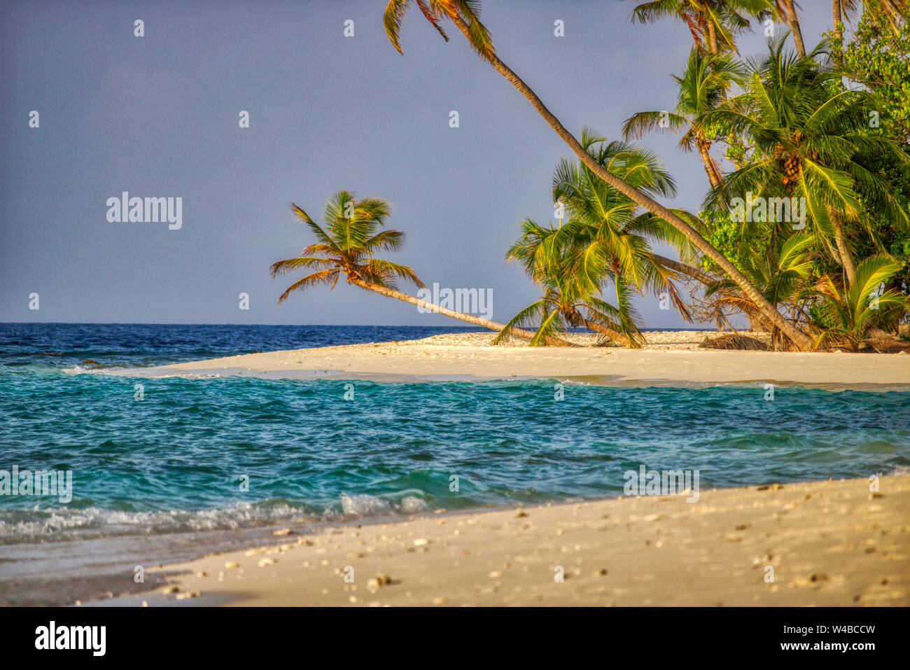
[[[499,330],[498,341],[565,344],[561,333],[586,328],[604,342],[641,346],[636,294],[672,304],[686,320],[713,314],[729,324],[743,315],[775,349],[877,349],[902,332],[910,316],[905,0],[833,0],[832,30],[809,49],[793,0],[640,2],[633,23],[682,22],[693,49],[672,77],[674,104],[631,110],[622,139],[613,140],[590,128],[575,137],[563,126],[501,59],[478,0],[389,0],[384,25],[400,53],[400,28],[414,7],[446,41],[453,25],[573,154],[556,166],[551,185],[565,220],[525,218],[507,251],[540,293],[506,324],[479,324]],[[767,47],[743,56],[737,40],[756,26]],[[706,175],[697,213],[662,204],[675,193],[673,178],[632,142],[657,131],[697,151]],[[380,230],[384,201],[358,201],[362,214],[345,219],[339,197],[325,229],[295,208],[318,244],[279,261],[273,274],[316,270],[288,291],[333,287],[344,274],[360,288],[416,300],[394,286],[398,279],[420,286],[413,271],[372,255],[399,249],[403,239]],[[678,258],[660,255],[657,245]]]

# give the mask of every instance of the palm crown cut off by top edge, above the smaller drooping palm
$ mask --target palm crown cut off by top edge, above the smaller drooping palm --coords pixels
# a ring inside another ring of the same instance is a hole
[[[689,26],[702,53],[735,51],[735,34],[749,27],[750,16],[768,15],[770,0],[650,0],[632,10],[632,21],[653,23],[672,17]]]

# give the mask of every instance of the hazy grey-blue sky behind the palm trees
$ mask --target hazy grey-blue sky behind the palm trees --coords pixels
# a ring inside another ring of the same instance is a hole
[[[672,109],[671,74],[692,47],[685,25],[632,25],[634,5],[487,0],[482,18],[566,127],[616,138],[634,112]],[[802,5],[814,45],[830,4]],[[393,204],[389,227],[408,239],[389,258],[426,283],[491,289],[497,320],[529,304],[535,288],[503,253],[521,218],[551,220],[551,173],[570,151],[451,25],[447,44],[412,10],[399,56],[384,6],[4,3],[0,321],[458,325],[343,283],[276,304],[293,278],[269,279],[268,266],[313,241],[289,203],[321,218],[342,188]],[[740,44],[756,53],[763,36]],[[672,205],[697,211],[707,179],[677,139],[644,143],[677,180]],[[183,198],[182,228],[109,222],[107,198],[122,191]],[[648,328],[684,325],[655,298],[638,307]]]

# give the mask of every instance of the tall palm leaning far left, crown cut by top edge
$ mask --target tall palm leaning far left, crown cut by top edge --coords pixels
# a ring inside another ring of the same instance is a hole
[[[736,269],[735,266],[733,266],[733,263],[731,263],[729,259],[726,259],[720,251],[714,249],[714,247],[709,244],[708,241],[692,227],[692,225],[674,214],[669,208],[664,207],[653,198],[650,198],[638,189],[633,188],[622,178],[612,175],[604,167],[597,164],[594,158],[584,150],[584,147],[581,146],[578,139],[576,139],[566,127],[561,124],[561,121],[543,104],[541,98],[531,90],[531,87],[525,84],[524,81],[521,80],[521,77],[516,75],[511,68],[503,63],[500,57],[496,55],[490,32],[480,23],[478,15],[478,12],[480,11],[480,2],[477,2],[477,0],[420,0],[420,2],[415,0],[415,3],[420,6],[424,16],[430,20],[430,24],[438,29],[440,28],[439,23],[441,18],[443,16],[449,18],[452,24],[454,24],[460,30],[461,34],[467,38],[471,48],[480,57],[489,62],[490,66],[499,72],[501,76],[505,77],[512,86],[515,86],[521,92],[521,95],[531,103],[531,107],[534,107],[556,134],[569,145],[572,153],[579,157],[586,166],[590,167],[598,178],[601,178],[613,188],[616,188],[619,192],[631,198],[638,205],[642,206],[642,208],[652,211],[653,214],[662,218],[673,228],[678,229],[682,235],[689,239],[693,245],[698,247],[705,256],[712,259],[718,267],[723,269],[723,272],[736,282],[743,293],[755,301],[755,304],[762,311],[763,315],[776,324],[778,328],[783,330],[787,337],[794,341],[797,347],[806,350],[812,346],[812,339],[803,332],[797,330],[791,323],[785,320],[780,313],[774,310],[773,307],[768,304],[767,300],[763,299],[759,291],[745,278],[743,273]],[[399,46],[399,28],[409,5],[410,0],[389,0],[389,4],[386,6],[386,33],[389,36],[392,45],[395,46],[399,52],[401,51],[401,47]],[[443,36],[445,36],[444,33]],[[446,38],[448,39],[448,37]]]

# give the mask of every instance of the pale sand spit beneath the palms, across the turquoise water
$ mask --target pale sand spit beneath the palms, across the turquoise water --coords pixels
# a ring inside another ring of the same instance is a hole
[[[765,338],[763,333],[743,333]],[[142,376],[207,376],[252,372],[271,377],[315,373],[359,378],[588,377],[601,382],[726,383],[772,381],[864,388],[910,385],[910,355],[698,349],[714,331],[649,332],[642,350],[617,347],[528,347],[523,340],[490,346],[491,332],[437,335],[424,340],[349,344],[317,349],[200,360],[120,371]],[[593,344],[591,335],[572,340]],[[595,379],[596,378],[596,379]]]

